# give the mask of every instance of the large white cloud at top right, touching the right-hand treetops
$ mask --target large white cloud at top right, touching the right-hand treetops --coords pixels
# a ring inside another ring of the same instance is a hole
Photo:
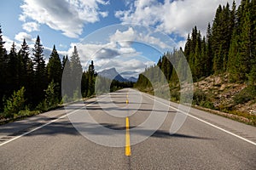
[[[233,0],[136,0],[128,10],[119,10],[115,16],[124,23],[155,26],[168,34],[177,33],[183,37],[198,26],[203,32],[207,23],[213,20],[219,4],[232,4]],[[239,4],[241,0],[236,0]]]

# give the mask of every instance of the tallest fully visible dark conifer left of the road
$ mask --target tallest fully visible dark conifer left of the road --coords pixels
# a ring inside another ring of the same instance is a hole
[[[46,66],[44,61],[44,48],[41,44],[40,37],[37,37],[34,48],[32,49],[32,61],[34,65],[33,80],[33,104],[38,105],[44,99],[44,89],[47,88]]]

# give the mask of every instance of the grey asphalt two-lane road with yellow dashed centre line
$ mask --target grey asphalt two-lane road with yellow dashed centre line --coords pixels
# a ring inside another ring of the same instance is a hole
[[[191,109],[171,135],[176,108],[126,88],[3,125],[0,169],[256,169],[255,127]]]

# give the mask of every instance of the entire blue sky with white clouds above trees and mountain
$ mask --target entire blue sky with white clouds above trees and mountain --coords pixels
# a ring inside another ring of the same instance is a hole
[[[184,48],[197,26],[205,35],[218,5],[233,0],[0,0],[5,48],[23,39],[32,49],[39,35],[46,62],[53,46],[61,58],[77,46],[84,70],[115,67],[137,77],[160,56]],[[241,0],[236,0],[236,6]]]

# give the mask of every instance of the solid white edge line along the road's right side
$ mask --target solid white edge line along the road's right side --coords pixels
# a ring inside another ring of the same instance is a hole
[[[147,96],[149,99],[153,99],[152,97],[148,96],[148,94],[147,94],[147,95],[144,94],[144,95]],[[165,103],[163,103],[163,102],[161,102],[161,101],[158,101],[158,100],[156,100],[156,99],[153,99],[153,100],[156,101],[156,102],[158,102],[158,103],[160,103],[160,104],[162,104],[162,105],[166,105]],[[238,138],[238,139],[242,139],[242,140],[246,141],[247,143],[256,145],[255,142],[253,142],[253,141],[251,141],[251,140],[249,140],[249,139],[245,139],[245,138],[243,138],[243,137],[237,135],[236,133],[231,133],[230,131],[227,131],[227,130],[225,130],[225,129],[222,128],[222,127],[218,127],[218,126],[216,126],[216,125],[214,125],[214,124],[212,124],[212,123],[210,123],[210,122],[206,122],[206,121],[202,120],[201,118],[198,118],[198,117],[196,117],[196,116],[190,115],[189,113],[186,113],[186,112],[184,112],[184,111],[180,111],[180,110],[178,110],[176,107],[173,107],[172,105],[166,105],[166,106],[172,108],[172,109],[175,110],[175,111],[179,111],[179,112],[181,112],[181,113],[183,113],[183,114],[185,114],[185,115],[187,115],[187,116],[190,116],[190,117],[192,117],[192,118],[194,118],[194,119],[196,119],[196,120],[198,120],[198,121],[200,121],[200,122],[204,122],[204,123],[206,123],[207,125],[209,125],[209,126],[211,126],[211,127],[218,128],[218,130],[221,130],[221,131],[223,131],[224,133],[229,133],[230,135],[233,135],[233,136],[235,136],[235,137]]]

